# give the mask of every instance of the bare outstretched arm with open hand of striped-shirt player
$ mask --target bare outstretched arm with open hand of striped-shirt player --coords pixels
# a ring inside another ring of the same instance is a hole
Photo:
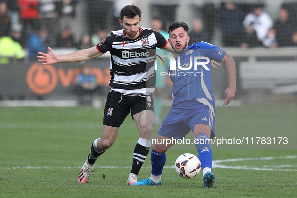
[[[40,58],[38,61],[44,62],[42,63],[43,65],[55,64],[58,62],[87,61],[91,58],[95,58],[103,54],[97,50],[96,46],[88,49],[78,50],[71,54],[61,55],[61,56],[58,56],[50,47],[48,47],[48,50],[50,51],[50,54],[38,52],[38,54],[42,55],[42,56],[37,56],[37,58]]]

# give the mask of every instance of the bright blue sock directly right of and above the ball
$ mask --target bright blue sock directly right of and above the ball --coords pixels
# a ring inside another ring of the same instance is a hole
[[[198,159],[201,162],[201,170],[206,167],[212,168],[213,152],[207,135],[205,135],[204,133],[199,134],[196,137],[195,145],[198,150]]]

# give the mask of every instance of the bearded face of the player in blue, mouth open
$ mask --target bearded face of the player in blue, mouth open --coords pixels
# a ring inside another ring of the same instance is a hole
[[[189,40],[190,37],[182,27],[176,28],[169,33],[168,41],[176,54],[181,54],[188,48]]]

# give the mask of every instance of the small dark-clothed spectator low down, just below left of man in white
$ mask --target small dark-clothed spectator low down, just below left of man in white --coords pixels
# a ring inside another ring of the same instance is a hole
[[[262,41],[258,40],[254,28],[252,26],[248,26],[247,28],[245,28],[240,47],[246,49],[260,46],[263,46],[263,44]]]

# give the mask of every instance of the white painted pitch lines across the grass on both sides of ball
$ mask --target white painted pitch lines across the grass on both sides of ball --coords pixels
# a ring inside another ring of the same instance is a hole
[[[281,157],[253,157],[253,158],[234,158],[234,159],[223,159],[223,160],[214,160],[212,168],[229,168],[229,169],[243,169],[243,170],[267,170],[267,171],[297,171],[294,169],[281,169],[285,167],[297,167],[297,165],[279,165],[279,166],[270,166],[264,165],[261,168],[257,166],[225,166],[219,163],[223,162],[236,162],[236,161],[251,161],[251,160],[273,160],[273,159],[294,159],[297,158],[297,155],[293,156],[281,156]],[[79,169],[81,166],[65,166],[65,167],[32,167],[32,166],[25,166],[25,167],[0,167],[1,169],[10,170],[10,169]],[[130,166],[94,166],[94,168],[113,168],[113,169],[130,169]],[[151,166],[145,166],[142,168],[151,168]],[[172,166],[164,166],[164,168],[174,168]]]

